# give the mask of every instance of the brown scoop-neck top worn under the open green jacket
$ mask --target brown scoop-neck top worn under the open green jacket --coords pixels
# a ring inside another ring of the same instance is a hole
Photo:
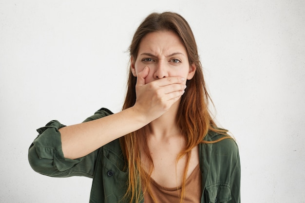
[[[185,198],[183,203],[200,203],[201,199],[201,172],[199,164],[195,167],[186,181]],[[152,194],[157,203],[179,203],[181,187],[163,187],[152,179]],[[144,203],[153,203],[152,197],[146,192]]]

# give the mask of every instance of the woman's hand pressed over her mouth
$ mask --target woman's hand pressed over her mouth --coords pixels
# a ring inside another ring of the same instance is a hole
[[[136,102],[134,108],[145,114],[150,121],[160,117],[178,101],[184,93],[185,78],[181,76],[164,77],[145,84],[149,67],[137,74],[135,86]]]

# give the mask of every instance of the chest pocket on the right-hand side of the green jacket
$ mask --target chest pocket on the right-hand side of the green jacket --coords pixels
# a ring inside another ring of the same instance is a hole
[[[205,195],[209,203],[227,203],[231,198],[231,190],[227,184],[215,184],[205,188]]]

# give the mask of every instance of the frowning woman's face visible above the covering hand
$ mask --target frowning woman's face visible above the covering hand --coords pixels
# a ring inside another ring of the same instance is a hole
[[[131,58],[133,76],[146,66],[149,74],[145,84],[170,76],[191,79],[196,71],[180,38],[172,31],[152,32],[142,38],[136,60]]]

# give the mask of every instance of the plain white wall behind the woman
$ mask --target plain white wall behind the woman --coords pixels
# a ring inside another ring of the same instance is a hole
[[[34,172],[36,129],[121,109],[141,20],[195,35],[215,117],[236,138],[243,203],[305,203],[304,0],[0,0],[0,202],[85,203],[92,180]]]

